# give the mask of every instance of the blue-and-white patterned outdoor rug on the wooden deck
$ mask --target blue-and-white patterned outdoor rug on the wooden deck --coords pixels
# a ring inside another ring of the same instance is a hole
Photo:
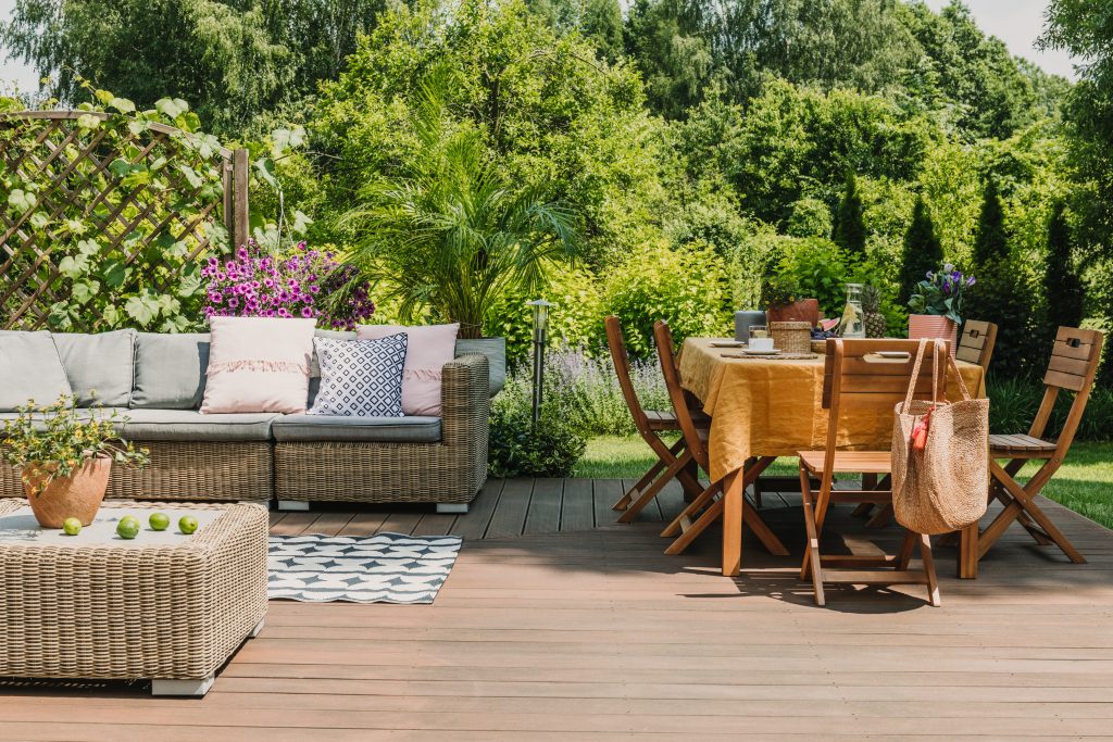
[[[327,603],[432,603],[460,536],[270,536],[267,597]]]

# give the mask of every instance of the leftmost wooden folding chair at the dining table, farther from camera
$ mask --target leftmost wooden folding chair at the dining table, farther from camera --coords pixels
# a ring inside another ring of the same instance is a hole
[[[614,362],[614,373],[619,378],[619,387],[622,389],[622,396],[630,409],[634,427],[657,454],[657,462],[612,507],[615,511],[624,511],[619,516],[619,523],[630,523],[673,478],[680,482],[680,486],[690,497],[699,495],[702,487],[689,471],[693,468],[693,459],[687,451],[684,438],[681,437],[671,446],[661,441],[661,433],[680,429],[680,423],[676,415],[666,410],[643,409],[641,406],[638,393],[633,388],[633,380],[630,378],[630,355],[626,349],[626,339],[622,336],[619,318],[607,317],[603,324],[607,327],[607,343],[611,349],[611,359]],[[706,415],[700,416],[700,418],[693,417],[693,419],[697,419],[696,425],[703,428],[710,422]]]

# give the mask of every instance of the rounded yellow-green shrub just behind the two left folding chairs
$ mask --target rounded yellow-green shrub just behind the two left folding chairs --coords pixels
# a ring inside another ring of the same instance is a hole
[[[608,276],[605,304],[637,357],[649,355],[658,319],[669,323],[678,343],[733,332],[727,261],[707,246],[671,249],[658,243],[630,255]]]

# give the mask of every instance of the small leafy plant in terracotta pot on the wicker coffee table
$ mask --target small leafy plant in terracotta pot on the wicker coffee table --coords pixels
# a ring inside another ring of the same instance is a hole
[[[4,423],[0,459],[20,471],[39,525],[61,528],[71,517],[89,525],[105,499],[112,463],[148,463],[146,448],[120,439],[120,422],[116,413],[79,410],[72,397],[61,396],[46,407],[29,402],[16,419]]]

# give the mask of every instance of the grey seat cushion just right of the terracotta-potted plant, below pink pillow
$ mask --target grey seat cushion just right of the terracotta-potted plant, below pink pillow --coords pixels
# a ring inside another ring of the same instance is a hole
[[[275,413],[203,415],[196,409],[126,409],[122,435],[131,441],[269,441]]]

